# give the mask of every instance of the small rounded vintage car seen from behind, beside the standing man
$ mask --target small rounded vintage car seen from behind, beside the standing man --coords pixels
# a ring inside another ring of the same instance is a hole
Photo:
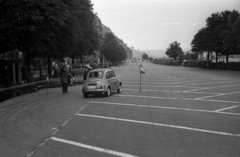
[[[121,93],[122,82],[112,69],[89,71],[82,88],[84,97],[88,97],[89,94],[103,94],[108,97],[115,91]]]

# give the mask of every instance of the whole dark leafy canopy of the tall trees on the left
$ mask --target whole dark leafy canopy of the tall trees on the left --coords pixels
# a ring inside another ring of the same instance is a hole
[[[1,0],[0,52],[79,56],[99,48],[89,0]]]

